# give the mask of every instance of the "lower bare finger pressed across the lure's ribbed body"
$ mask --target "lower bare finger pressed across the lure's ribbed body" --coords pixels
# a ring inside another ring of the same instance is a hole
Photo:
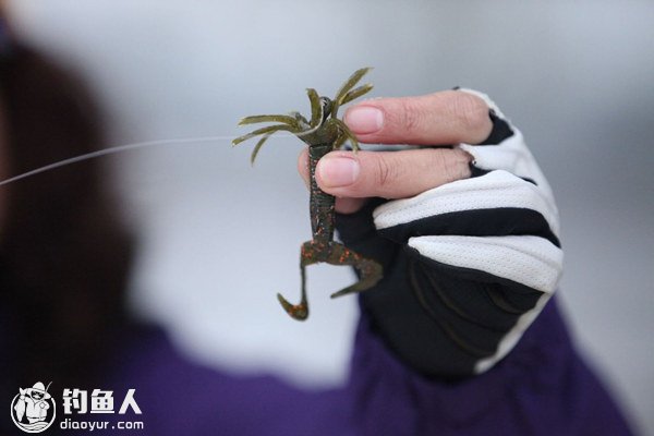
[[[405,198],[470,177],[471,161],[457,148],[331,152],[318,161],[316,181],[337,197]]]

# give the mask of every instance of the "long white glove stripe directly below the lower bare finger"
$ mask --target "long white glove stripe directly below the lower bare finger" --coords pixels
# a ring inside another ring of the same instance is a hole
[[[373,211],[373,217],[375,227],[382,230],[448,213],[505,207],[540,213],[558,237],[558,213],[540,187],[502,170],[447,183],[412,198],[383,204]]]

